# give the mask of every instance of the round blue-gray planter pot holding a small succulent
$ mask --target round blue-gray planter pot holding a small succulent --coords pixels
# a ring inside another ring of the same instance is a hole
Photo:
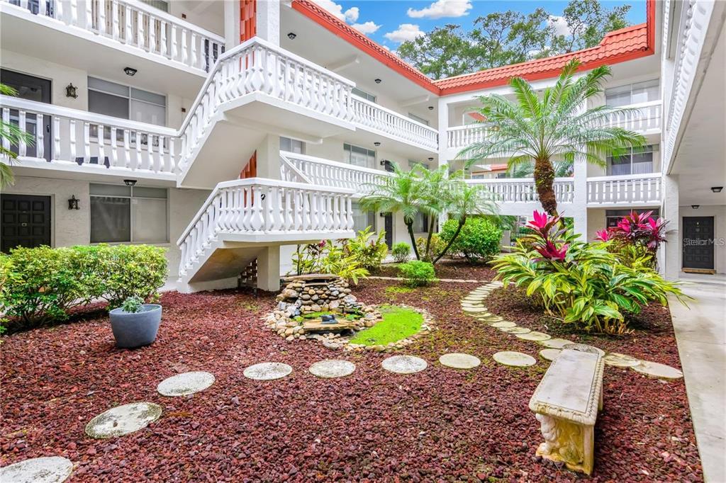
[[[161,323],[161,305],[144,304],[141,312],[124,312],[121,307],[111,310],[111,330],[116,346],[134,349],[149,345],[156,339]]]

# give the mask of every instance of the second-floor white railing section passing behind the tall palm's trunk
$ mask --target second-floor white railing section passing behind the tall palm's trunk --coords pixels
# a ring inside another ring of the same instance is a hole
[[[466,182],[471,186],[486,188],[496,202],[539,202],[537,186],[534,185],[533,178],[468,179]],[[559,203],[572,202],[574,199],[574,181],[572,178],[555,178],[555,197]]]

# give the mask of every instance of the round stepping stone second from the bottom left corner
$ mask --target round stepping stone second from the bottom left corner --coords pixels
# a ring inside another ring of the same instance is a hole
[[[106,439],[144,429],[161,416],[161,406],[153,402],[131,402],[100,413],[86,424],[86,434]]]

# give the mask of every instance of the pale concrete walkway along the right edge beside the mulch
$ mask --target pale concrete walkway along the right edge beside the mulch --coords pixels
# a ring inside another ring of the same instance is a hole
[[[690,310],[671,300],[671,315],[706,482],[726,482],[726,286],[698,283]]]

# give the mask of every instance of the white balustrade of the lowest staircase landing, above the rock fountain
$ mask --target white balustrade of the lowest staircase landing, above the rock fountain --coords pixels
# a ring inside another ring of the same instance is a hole
[[[352,192],[301,183],[246,178],[219,183],[176,244],[181,249],[179,275],[210,249],[213,241],[235,236],[353,234]],[[237,241],[241,241],[237,239]]]

